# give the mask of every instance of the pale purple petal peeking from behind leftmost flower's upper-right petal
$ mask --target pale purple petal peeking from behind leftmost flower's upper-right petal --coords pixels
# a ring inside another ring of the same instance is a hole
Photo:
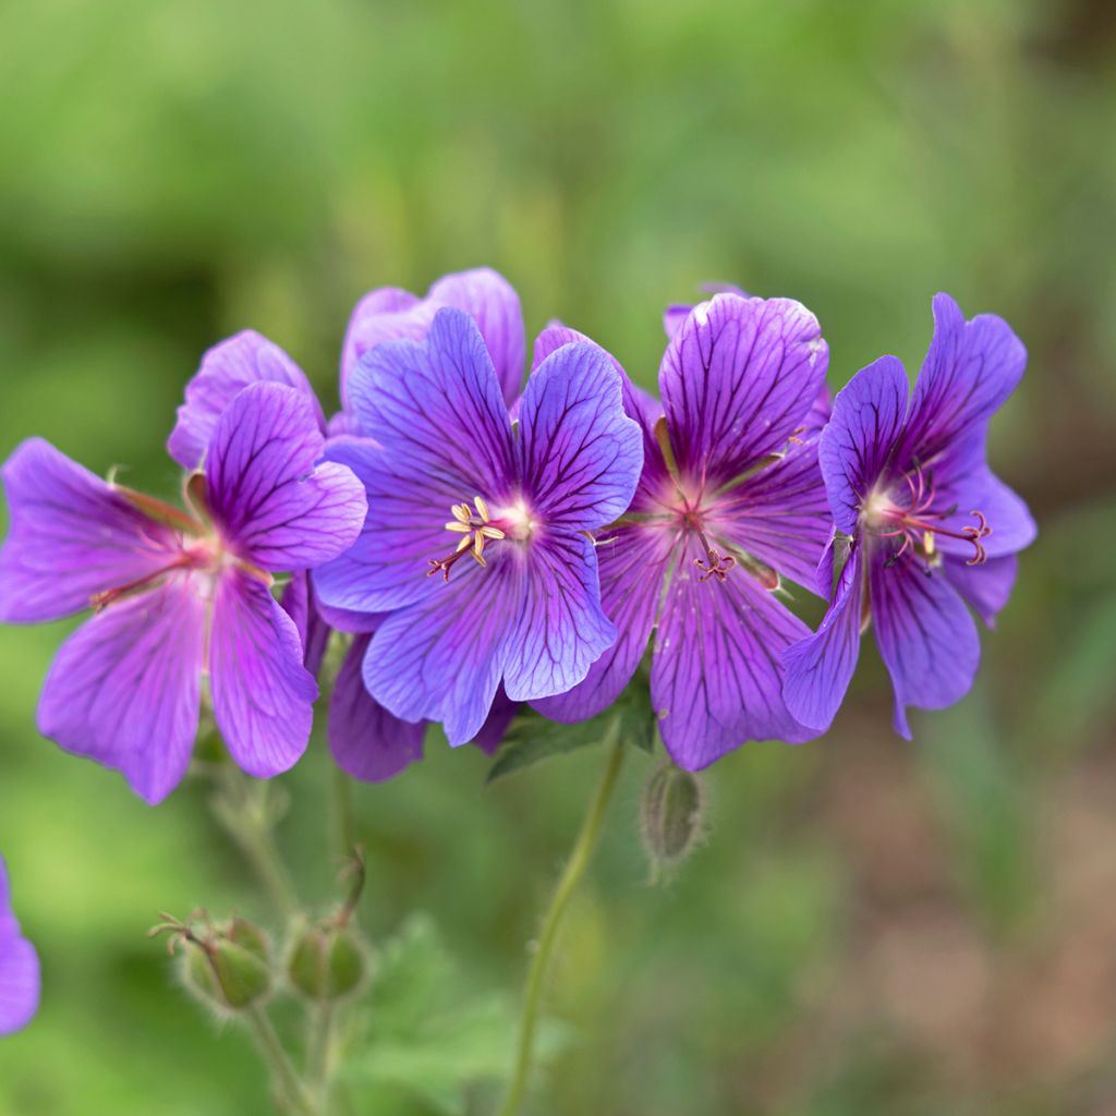
[[[198,469],[218,420],[249,384],[286,384],[306,396],[319,430],[326,429],[321,404],[306,374],[273,341],[252,329],[214,345],[186,385],[186,402],[179,407],[179,421],[167,439],[167,452],[183,469]]]

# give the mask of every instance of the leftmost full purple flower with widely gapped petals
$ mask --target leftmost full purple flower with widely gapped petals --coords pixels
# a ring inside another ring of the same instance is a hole
[[[208,431],[189,421],[179,431],[193,437],[174,440],[180,460],[196,465],[205,445],[189,513],[106,483],[38,439],[3,469],[0,619],[95,610],[50,668],[39,729],[121,770],[150,802],[185,772],[203,674],[246,771],[272,776],[302,753],[317,686],[272,571],[336,557],[366,510],[347,469],[318,464],[320,421],[297,387],[252,383]]]

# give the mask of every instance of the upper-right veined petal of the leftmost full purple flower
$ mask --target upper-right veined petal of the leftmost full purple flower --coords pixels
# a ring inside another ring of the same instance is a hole
[[[221,416],[205,465],[214,521],[241,557],[267,570],[306,569],[344,554],[364,523],[360,482],[318,459],[325,439],[304,395],[246,387]]]

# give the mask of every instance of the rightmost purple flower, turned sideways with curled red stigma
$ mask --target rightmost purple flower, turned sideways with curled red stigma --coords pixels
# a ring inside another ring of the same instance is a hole
[[[1026,362],[1006,321],[965,321],[937,295],[913,395],[893,356],[838,393],[820,446],[840,532],[818,571],[833,603],[817,633],[786,656],[787,704],[804,724],[829,725],[869,616],[895,685],[897,732],[911,737],[907,705],[942,709],[969,691],[980,641],[964,602],[991,626],[1011,593],[1014,555],[1036,535],[984,452],[989,419]]]

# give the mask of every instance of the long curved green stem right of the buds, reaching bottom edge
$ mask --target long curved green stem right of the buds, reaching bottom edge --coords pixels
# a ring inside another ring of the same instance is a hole
[[[523,1101],[527,1093],[528,1081],[531,1074],[531,1064],[535,1056],[535,1035],[538,1030],[539,1010],[542,1007],[542,993],[545,991],[547,968],[550,955],[554,953],[555,942],[558,939],[558,931],[561,927],[562,917],[569,907],[569,902],[577,891],[577,885],[581,882],[589,862],[593,859],[594,850],[597,847],[597,838],[600,836],[600,826],[608,809],[608,802],[613,797],[616,787],[616,778],[619,775],[620,763],[624,759],[624,741],[617,738],[613,744],[608,757],[608,766],[605,768],[597,791],[589,804],[589,811],[581,822],[581,829],[574,843],[574,849],[562,869],[561,878],[555,888],[550,906],[542,918],[542,930],[539,934],[538,946],[531,965],[527,971],[527,983],[523,987],[523,1013],[519,1024],[519,1043],[516,1054],[516,1066],[511,1076],[511,1084],[508,1086],[508,1094],[500,1106],[499,1116],[514,1116],[519,1112],[519,1106]]]

